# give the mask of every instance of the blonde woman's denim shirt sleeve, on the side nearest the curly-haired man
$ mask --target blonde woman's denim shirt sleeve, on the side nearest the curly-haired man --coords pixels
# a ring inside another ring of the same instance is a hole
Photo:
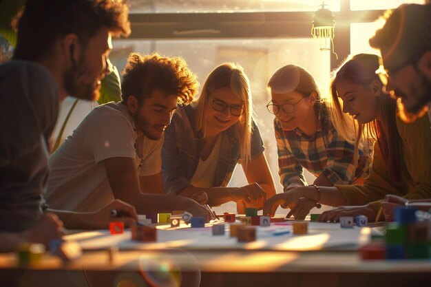
[[[185,177],[180,161],[178,160],[178,147],[176,137],[177,127],[174,120],[179,120],[176,115],[172,118],[172,123],[165,129],[165,140],[162,147],[162,177],[165,184],[165,192],[178,194],[186,187],[190,187],[190,180]]]

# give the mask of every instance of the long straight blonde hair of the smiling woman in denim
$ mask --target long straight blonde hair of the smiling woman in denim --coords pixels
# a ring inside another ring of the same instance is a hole
[[[233,94],[240,98],[243,103],[244,113],[238,118],[238,123],[235,126],[240,140],[241,162],[246,165],[251,160],[253,101],[251,99],[249,78],[247,78],[240,65],[223,63],[209,74],[199,98],[194,102],[196,105],[196,129],[201,131],[204,137],[206,136],[207,120],[205,109],[211,105],[209,96],[211,92],[226,87],[229,87]]]

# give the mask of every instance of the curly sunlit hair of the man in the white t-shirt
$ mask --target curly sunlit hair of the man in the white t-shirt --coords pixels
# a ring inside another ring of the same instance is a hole
[[[132,53],[127,57],[122,74],[123,104],[129,96],[135,96],[139,105],[143,105],[144,99],[151,97],[154,89],[159,89],[167,95],[178,95],[178,104],[188,105],[198,93],[198,78],[181,57]]]

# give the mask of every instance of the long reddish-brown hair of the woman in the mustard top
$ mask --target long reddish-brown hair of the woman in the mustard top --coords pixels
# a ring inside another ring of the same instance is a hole
[[[339,101],[337,93],[337,83],[341,80],[348,80],[357,85],[368,87],[373,80],[379,81],[379,76],[375,73],[379,69],[379,56],[373,54],[358,54],[352,59],[342,64],[335,71],[335,78],[330,85],[330,94],[332,96],[334,109],[331,114],[333,124],[341,136],[350,138],[352,130],[346,129],[351,122],[355,123],[355,150],[357,153],[359,142],[364,139],[365,142],[376,140],[381,150],[383,158],[386,160],[390,176],[394,182],[401,182],[400,164],[400,147],[399,134],[397,130],[396,114],[397,101],[390,96],[383,94],[379,96],[379,112],[381,120],[372,120],[370,123],[360,125],[351,116],[343,113],[343,105]],[[380,82],[381,83],[381,82]],[[355,153],[355,154],[356,154]]]

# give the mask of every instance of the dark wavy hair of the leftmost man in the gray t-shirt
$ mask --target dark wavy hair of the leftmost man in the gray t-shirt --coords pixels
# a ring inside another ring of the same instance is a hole
[[[76,34],[83,47],[102,28],[114,36],[128,36],[128,12],[127,3],[121,0],[27,0],[22,14],[13,21],[18,30],[13,57],[42,59],[67,34]]]

